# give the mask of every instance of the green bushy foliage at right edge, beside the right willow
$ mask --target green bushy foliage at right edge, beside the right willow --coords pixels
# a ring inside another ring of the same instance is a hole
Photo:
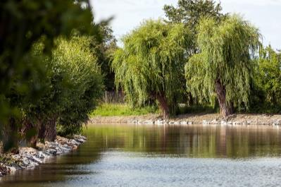
[[[251,111],[280,113],[281,53],[270,46],[262,50],[251,92]]]

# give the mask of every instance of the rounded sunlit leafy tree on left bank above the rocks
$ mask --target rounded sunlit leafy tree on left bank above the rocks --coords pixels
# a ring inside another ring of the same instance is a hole
[[[54,141],[57,122],[60,133],[77,133],[96,107],[103,90],[103,76],[97,57],[91,51],[92,37],[60,37],[51,57],[44,60],[46,76],[39,78],[44,94],[25,101],[25,132],[32,147],[37,138]],[[37,44],[40,50],[42,44]],[[40,52],[39,52],[40,55]],[[37,79],[32,80],[37,81]],[[33,132],[33,133],[30,133]]]

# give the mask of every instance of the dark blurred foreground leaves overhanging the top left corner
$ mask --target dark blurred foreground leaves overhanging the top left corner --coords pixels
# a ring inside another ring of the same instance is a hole
[[[6,95],[14,90],[23,90],[24,80],[31,71],[26,66],[32,44],[44,35],[46,51],[50,52],[53,39],[58,35],[69,35],[73,28],[94,32],[90,8],[82,8],[86,0],[76,1],[1,1],[0,3],[0,94],[1,121],[13,112]],[[5,118],[5,119],[4,119]]]

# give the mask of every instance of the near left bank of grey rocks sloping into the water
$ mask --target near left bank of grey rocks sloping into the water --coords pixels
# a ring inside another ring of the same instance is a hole
[[[32,169],[49,157],[76,150],[86,140],[82,135],[75,135],[71,139],[58,136],[55,142],[37,143],[37,149],[20,147],[18,154],[10,153],[0,157],[0,177],[20,169]]]

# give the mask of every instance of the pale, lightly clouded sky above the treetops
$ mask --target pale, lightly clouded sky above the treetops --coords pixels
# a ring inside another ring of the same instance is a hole
[[[218,1],[217,1],[218,2]],[[281,0],[221,0],[224,13],[239,13],[263,35],[263,44],[281,49]],[[163,6],[177,0],[91,0],[95,20],[113,17],[113,34],[120,38],[148,18],[165,18]]]

